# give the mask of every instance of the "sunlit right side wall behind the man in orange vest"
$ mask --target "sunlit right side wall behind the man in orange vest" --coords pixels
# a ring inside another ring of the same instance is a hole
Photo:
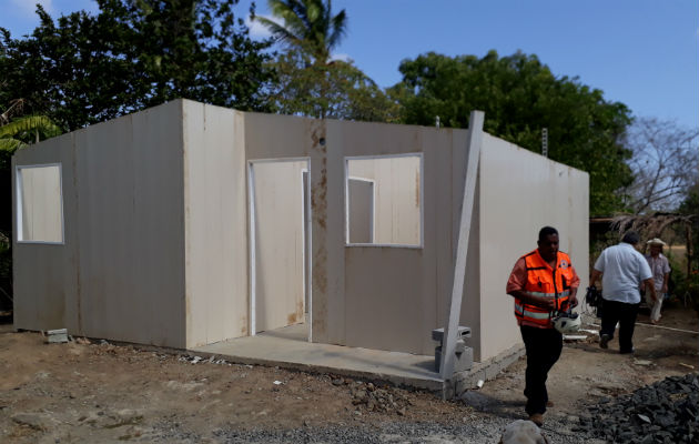
[[[485,134],[479,188],[482,359],[520,341],[505,286],[517,259],[537,248],[543,226],[558,230],[560,250],[570,254],[585,289],[587,196],[587,173]]]

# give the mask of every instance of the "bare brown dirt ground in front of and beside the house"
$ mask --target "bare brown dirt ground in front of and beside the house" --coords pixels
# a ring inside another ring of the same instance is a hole
[[[648,316],[641,314],[639,322],[647,324]],[[661,325],[696,332],[699,319],[693,311],[669,307]],[[367,412],[353,396],[361,384],[334,375],[220,359],[194,364],[183,355],[83,339],[45,344],[39,333],[0,327],[2,443],[219,442],[221,428],[467,424],[488,415],[524,415],[524,360],[464,401],[386,387],[404,407]],[[618,354],[616,340],[609,350],[600,350],[594,336],[568,343],[549,374],[555,406],[547,415],[576,416],[600,397],[697,371],[698,340],[698,334],[639,325],[635,356]]]

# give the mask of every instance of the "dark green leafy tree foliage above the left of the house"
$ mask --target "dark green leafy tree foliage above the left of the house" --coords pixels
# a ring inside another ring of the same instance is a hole
[[[38,6],[26,39],[2,30],[0,103],[23,98],[29,113],[65,130],[175,98],[265,110],[271,80],[262,50],[232,7],[237,0],[98,0],[97,16],[53,21]]]

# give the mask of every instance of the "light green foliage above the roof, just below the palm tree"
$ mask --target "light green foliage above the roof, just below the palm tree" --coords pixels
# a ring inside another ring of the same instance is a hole
[[[281,54],[273,64],[275,111],[361,121],[395,121],[397,104],[352,62],[313,63],[300,50]]]

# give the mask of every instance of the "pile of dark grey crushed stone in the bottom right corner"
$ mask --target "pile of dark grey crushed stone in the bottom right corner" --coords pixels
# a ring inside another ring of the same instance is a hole
[[[671,376],[580,417],[577,431],[614,443],[699,443],[699,374]]]

